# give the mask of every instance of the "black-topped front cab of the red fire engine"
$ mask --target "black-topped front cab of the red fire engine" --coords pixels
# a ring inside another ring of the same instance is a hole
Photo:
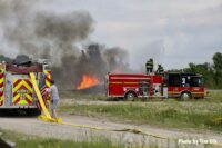
[[[203,77],[189,72],[168,72],[164,76],[164,85],[168,89],[168,98],[208,98],[209,92],[204,88]]]

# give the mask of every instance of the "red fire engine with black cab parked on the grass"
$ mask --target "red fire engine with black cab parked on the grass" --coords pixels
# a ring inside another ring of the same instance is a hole
[[[161,75],[109,73],[107,97],[135,98],[206,98],[203,78],[196,73],[168,72]]]

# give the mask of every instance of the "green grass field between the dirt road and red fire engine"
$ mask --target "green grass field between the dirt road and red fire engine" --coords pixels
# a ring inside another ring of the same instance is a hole
[[[222,91],[212,91],[211,95],[211,99],[191,101],[168,99],[145,102],[120,101],[104,105],[67,103],[61,105],[59,110],[124,122],[222,131]],[[94,97],[92,100],[97,100],[97,98]]]

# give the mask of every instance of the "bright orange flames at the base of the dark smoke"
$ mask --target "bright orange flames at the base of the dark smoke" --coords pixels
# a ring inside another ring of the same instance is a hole
[[[89,87],[93,87],[93,86],[97,86],[99,85],[100,81],[97,77],[94,76],[89,76],[89,75],[83,75],[82,76],[82,81],[81,83],[77,87],[77,89],[85,89],[85,88],[89,88]]]

